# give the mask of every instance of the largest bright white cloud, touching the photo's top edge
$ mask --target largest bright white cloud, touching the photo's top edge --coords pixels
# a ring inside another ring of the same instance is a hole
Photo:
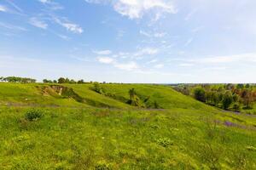
[[[154,20],[159,20],[162,14],[177,13],[170,0],[85,0],[85,2],[110,3],[116,12],[131,20],[140,19],[144,14],[154,14]]]

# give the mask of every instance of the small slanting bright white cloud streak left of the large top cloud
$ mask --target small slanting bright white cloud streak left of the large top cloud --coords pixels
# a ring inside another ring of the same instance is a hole
[[[73,33],[77,33],[77,34],[81,34],[84,32],[82,27],[80,27],[79,25],[76,25],[74,23],[71,23],[67,20],[61,20],[57,17],[53,17],[53,20],[60,26],[63,26],[64,28],[66,28],[67,31],[72,31]]]

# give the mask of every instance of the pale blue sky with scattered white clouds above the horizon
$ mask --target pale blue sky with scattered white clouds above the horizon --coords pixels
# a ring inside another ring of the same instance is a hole
[[[255,0],[0,0],[0,76],[256,82]]]

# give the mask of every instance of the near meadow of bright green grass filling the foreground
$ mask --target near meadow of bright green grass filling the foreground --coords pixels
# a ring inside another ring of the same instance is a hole
[[[44,108],[29,121],[30,110],[0,108],[2,169],[256,167],[255,127],[211,112]]]

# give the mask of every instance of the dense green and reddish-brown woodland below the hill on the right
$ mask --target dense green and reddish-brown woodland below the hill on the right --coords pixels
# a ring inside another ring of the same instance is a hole
[[[174,89],[228,111],[251,110],[256,102],[256,87],[250,84],[179,85]]]

